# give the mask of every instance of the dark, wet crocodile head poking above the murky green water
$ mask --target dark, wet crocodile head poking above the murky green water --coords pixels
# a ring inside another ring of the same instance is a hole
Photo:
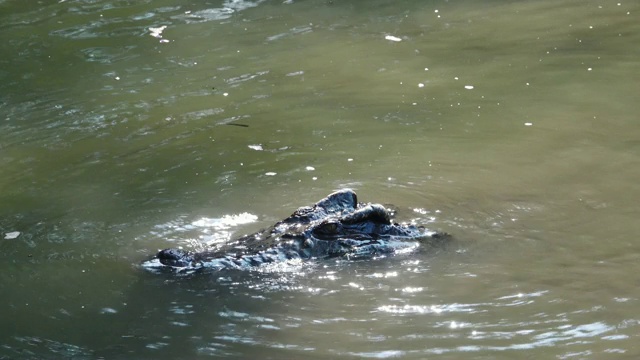
[[[219,249],[188,252],[171,248],[156,257],[174,268],[247,269],[293,259],[371,258],[410,251],[421,241],[447,237],[423,227],[393,223],[384,206],[358,203],[356,193],[345,189]]]

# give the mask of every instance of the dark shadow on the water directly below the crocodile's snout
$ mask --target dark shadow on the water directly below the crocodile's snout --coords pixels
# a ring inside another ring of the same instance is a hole
[[[269,282],[279,291],[265,296]],[[130,289],[123,311],[112,315],[121,331],[109,332],[112,341],[96,353],[107,359],[248,356],[248,349],[258,354],[267,346],[264,334],[258,336],[260,328],[268,332],[274,326],[264,310],[279,313],[279,298],[286,298],[289,286],[289,281],[258,272],[145,272]]]

